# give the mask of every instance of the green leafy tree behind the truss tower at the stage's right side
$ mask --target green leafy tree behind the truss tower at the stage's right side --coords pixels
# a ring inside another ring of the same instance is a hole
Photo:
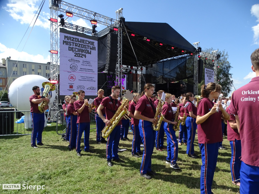
[[[213,50],[214,50],[213,48],[209,48],[209,49],[205,49],[204,52],[212,53]],[[219,67],[219,68],[217,68],[217,83],[219,85],[221,85],[221,87],[222,87],[221,93],[224,94],[224,96],[228,96],[228,94],[231,92],[231,88],[232,88],[231,83],[233,82],[233,80],[231,80],[232,73],[229,73],[229,71],[233,67],[230,65],[230,62],[227,60],[228,53],[225,50],[218,51],[217,54],[220,55],[220,58],[217,59],[217,66]],[[207,59],[206,65],[208,65],[208,66],[213,65],[212,60]],[[200,87],[204,84],[204,77],[205,77],[205,75],[204,75],[204,68],[203,68],[202,82],[198,85],[199,95],[200,95]]]

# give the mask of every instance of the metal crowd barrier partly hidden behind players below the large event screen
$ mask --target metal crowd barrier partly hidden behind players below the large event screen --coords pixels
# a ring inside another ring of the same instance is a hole
[[[96,129],[96,122],[95,122],[95,112],[92,110],[90,114],[90,130]],[[56,114],[57,123],[56,123],[56,132],[57,135],[64,135],[66,134],[67,124],[64,118],[64,110],[60,110]]]

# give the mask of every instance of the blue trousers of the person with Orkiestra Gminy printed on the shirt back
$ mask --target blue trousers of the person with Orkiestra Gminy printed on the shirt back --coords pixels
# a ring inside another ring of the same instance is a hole
[[[243,161],[240,168],[240,194],[258,193],[259,167],[251,166]]]

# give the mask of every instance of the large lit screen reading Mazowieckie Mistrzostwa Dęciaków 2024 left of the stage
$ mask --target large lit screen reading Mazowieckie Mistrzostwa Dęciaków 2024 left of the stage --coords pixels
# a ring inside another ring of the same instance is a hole
[[[97,93],[97,37],[60,28],[60,95]]]

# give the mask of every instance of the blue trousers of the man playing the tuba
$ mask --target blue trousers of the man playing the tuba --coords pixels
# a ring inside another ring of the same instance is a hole
[[[32,113],[31,112],[31,119],[32,119],[32,136],[31,136],[31,146],[35,146],[36,138],[37,144],[42,143],[42,132],[44,129],[45,124],[45,114],[44,113]]]

